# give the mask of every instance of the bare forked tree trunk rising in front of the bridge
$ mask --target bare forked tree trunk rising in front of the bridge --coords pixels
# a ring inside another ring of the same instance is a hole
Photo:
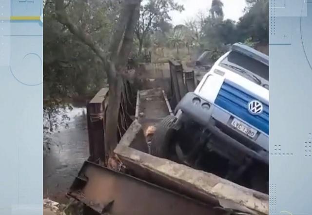
[[[118,10],[118,19],[111,33],[109,43],[98,43],[89,32],[89,26],[73,21],[70,10],[64,0],[55,0],[55,18],[81,43],[87,45],[100,59],[103,72],[106,72],[109,84],[109,99],[105,129],[106,158],[113,155],[117,145],[118,111],[122,91],[122,75],[132,50],[134,31],[139,18],[140,0],[123,0]],[[87,0],[91,6],[91,1]],[[90,8],[95,10],[96,8]],[[77,13],[76,13],[77,14]],[[80,15],[80,14],[78,14]],[[91,17],[89,17],[90,19]],[[82,19],[81,19],[82,20]],[[106,45],[108,44],[108,45]]]

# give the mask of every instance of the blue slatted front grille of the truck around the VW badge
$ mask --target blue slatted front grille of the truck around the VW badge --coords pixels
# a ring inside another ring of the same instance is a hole
[[[248,111],[248,103],[258,100],[248,92],[238,89],[230,83],[224,82],[215,99],[215,105],[223,108],[234,116],[249,123],[255,128],[269,134],[269,106],[263,104],[263,112],[260,115],[253,115]]]

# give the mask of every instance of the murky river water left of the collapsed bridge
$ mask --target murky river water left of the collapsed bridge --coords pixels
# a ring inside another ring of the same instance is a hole
[[[86,109],[68,111],[68,127],[50,135],[50,150],[43,155],[43,196],[66,203],[67,189],[89,156]]]

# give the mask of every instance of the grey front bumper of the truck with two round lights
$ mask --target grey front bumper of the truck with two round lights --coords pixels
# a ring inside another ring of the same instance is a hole
[[[210,108],[207,108],[207,105]],[[258,129],[255,137],[250,138],[231,126],[233,115],[193,92],[187,93],[182,98],[176,106],[175,113],[178,110],[183,112],[181,118],[183,122],[193,121],[213,134],[217,143],[210,145],[212,150],[234,161],[239,160],[241,156],[248,156],[269,164],[269,137]]]

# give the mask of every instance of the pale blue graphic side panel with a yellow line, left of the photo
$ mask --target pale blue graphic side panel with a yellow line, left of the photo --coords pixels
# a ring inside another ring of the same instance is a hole
[[[0,215],[42,215],[42,0],[0,0]]]

